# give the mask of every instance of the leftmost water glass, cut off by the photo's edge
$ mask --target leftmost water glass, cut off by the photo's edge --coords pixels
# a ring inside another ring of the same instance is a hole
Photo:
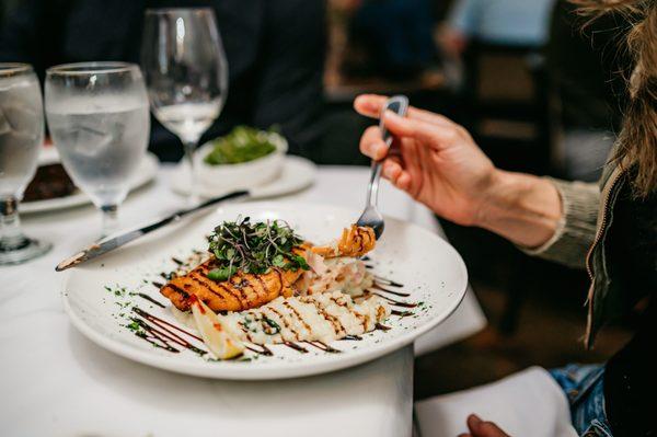
[[[34,70],[0,64],[0,265],[24,263],[51,248],[25,237],[18,212],[43,142],[44,105]]]

